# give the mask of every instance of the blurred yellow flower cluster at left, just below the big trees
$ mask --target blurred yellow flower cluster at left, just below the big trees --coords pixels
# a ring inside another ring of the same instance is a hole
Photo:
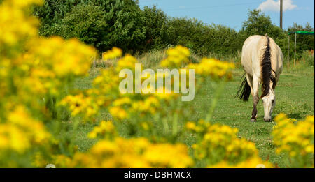
[[[95,56],[92,47],[83,45],[76,38],[66,42],[59,37],[40,38],[29,46],[33,53],[29,60],[36,60],[36,66],[49,68],[57,77],[86,75],[92,63],[90,59]]]

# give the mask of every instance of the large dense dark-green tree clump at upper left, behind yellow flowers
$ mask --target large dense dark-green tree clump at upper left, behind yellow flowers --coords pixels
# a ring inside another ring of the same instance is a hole
[[[36,6],[41,36],[77,37],[100,52],[116,46],[139,50],[146,38],[144,13],[132,0],[47,0]]]

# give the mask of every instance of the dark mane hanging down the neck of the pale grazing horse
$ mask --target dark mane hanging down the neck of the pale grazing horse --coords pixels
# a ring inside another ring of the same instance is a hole
[[[270,39],[267,34],[265,34],[265,37],[267,38],[267,45],[265,52],[262,55],[262,60],[260,62],[260,66],[262,68],[262,95],[260,96],[260,98],[267,96],[267,94],[269,93],[270,81],[272,82],[273,89],[276,86],[276,79],[274,75],[272,75],[272,71],[274,72],[274,70],[272,70],[271,66]]]

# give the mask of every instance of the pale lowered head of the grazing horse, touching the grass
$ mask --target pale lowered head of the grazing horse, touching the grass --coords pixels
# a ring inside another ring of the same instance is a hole
[[[270,89],[269,93],[262,98],[262,104],[264,105],[265,110],[265,121],[271,121],[272,119],[272,110],[274,109],[274,105],[276,105],[276,95],[274,94],[274,90]]]

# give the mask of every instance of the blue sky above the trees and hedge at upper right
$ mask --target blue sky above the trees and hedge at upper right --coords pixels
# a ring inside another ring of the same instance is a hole
[[[279,26],[279,0],[139,0],[141,8],[156,5],[171,17],[195,17],[207,24],[223,24],[236,30],[247,19],[248,9],[262,9]],[[314,27],[314,0],[283,0],[283,28],[293,22]]]

